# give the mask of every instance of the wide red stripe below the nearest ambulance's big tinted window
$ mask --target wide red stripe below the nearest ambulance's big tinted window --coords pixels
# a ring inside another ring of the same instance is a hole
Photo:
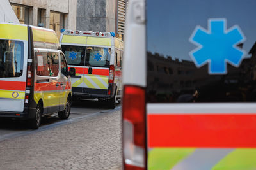
[[[148,146],[256,147],[255,114],[148,115]]]

